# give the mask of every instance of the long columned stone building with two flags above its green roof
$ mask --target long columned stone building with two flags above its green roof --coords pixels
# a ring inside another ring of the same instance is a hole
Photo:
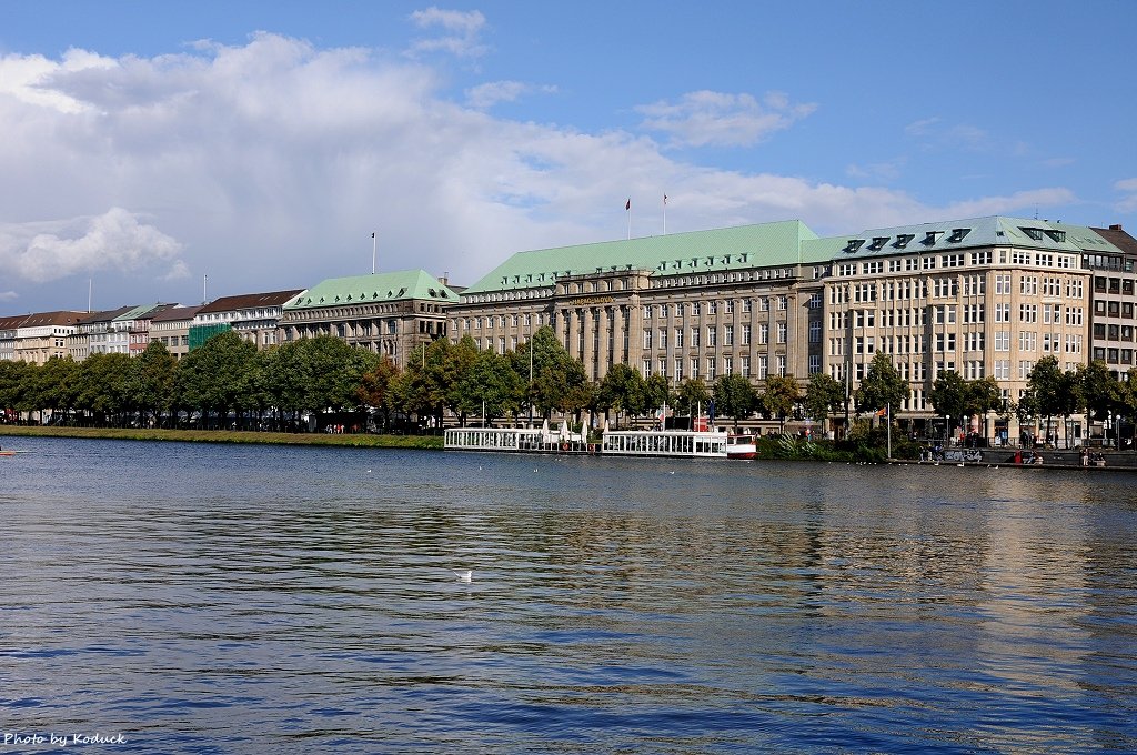
[[[673,383],[822,368],[832,243],[789,221],[514,255],[448,309],[449,335],[505,352],[549,325],[586,374]]]

